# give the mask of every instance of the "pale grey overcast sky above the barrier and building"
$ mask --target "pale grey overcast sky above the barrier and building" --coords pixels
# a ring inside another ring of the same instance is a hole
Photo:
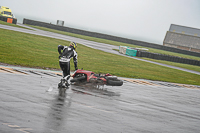
[[[200,0],[1,0],[22,18],[163,44],[171,24],[200,29]]]

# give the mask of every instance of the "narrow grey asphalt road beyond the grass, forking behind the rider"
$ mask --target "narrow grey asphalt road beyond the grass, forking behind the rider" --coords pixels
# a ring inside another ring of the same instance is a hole
[[[57,33],[53,33],[53,32],[43,31],[43,30],[39,30],[39,29],[36,29],[36,28],[32,28],[30,26],[20,24],[20,23],[18,23],[18,25],[25,27],[25,28],[29,28],[30,30],[25,29],[25,28],[18,28],[18,27],[13,27],[13,26],[2,25],[2,24],[0,24],[0,28],[18,31],[18,32],[23,32],[23,33],[34,34],[34,35],[40,35],[40,36],[45,36],[45,37],[51,37],[51,38],[56,38],[56,39],[61,39],[61,40],[74,41],[74,42],[83,44],[87,47],[98,49],[98,50],[101,50],[101,51],[104,51],[104,52],[113,53],[113,54],[117,54],[117,55],[121,55],[121,56],[126,56],[128,58],[132,58],[132,59],[136,59],[136,60],[140,60],[140,61],[145,61],[145,62],[161,65],[161,66],[164,66],[164,67],[169,67],[169,68],[173,68],[173,69],[177,69],[177,70],[181,70],[181,71],[200,75],[200,72],[197,72],[197,71],[188,70],[188,69],[175,67],[175,66],[171,66],[171,65],[166,65],[166,64],[162,64],[162,63],[158,63],[158,62],[154,62],[154,61],[144,60],[144,59],[137,58],[137,57],[131,57],[131,56],[120,54],[119,52],[113,50],[113,49],[119,49],[119,46],[114,46],[114,45],[105,44],[105,43],[98,43],[98,42],[88,41],[88,40],[84,40],[84,39],[80,39],[80,38],[76,38],[76,37],[71,37],[71,36],[61,35],[61,34],[57,34]]]

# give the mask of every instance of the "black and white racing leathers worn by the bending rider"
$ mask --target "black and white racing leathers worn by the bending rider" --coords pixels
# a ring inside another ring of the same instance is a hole
[[[78,54],[72,46],[68,47],[68,46],[58,45],[58,53],[60,54],[59,64],[60,64],[60,68],[63,71],[63,77],[70,75],[70,59],[72,57],[74,61],[75,70],[78,69],[77,67]]]

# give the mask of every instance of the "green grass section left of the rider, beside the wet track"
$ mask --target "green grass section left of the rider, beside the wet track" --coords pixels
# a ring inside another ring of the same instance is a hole
[[[54,68],[60,40],[0,29],[0,62]],[[62,41],[63,43],[63,41]],[[51,60],[50,60],[51,59]]]

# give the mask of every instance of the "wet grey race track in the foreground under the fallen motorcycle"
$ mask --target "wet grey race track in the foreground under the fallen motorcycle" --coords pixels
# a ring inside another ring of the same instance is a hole
[[[121,87],[71,85],[59,72],[0,66],[0,133],[198,133],[200,88],[123,79]]]

